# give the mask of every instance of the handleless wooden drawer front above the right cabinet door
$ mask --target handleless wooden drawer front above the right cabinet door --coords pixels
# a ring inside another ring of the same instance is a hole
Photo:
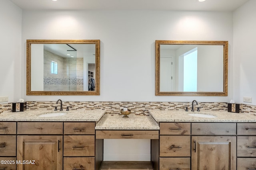
[[[236,123],[191,123],[192,135],[236,135]]]

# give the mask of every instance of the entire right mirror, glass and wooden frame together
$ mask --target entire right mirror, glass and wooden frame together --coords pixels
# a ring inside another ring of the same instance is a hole
[[[156,96],[228,96],[228,41],[156,40]]]

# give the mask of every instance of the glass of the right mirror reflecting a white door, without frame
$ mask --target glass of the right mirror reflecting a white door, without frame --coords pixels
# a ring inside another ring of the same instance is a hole
[[[223,52],[223,45],[161,44],[160,92],[223,92]]]

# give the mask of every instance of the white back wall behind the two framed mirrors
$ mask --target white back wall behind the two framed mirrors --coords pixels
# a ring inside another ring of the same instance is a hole
[[[228,102],[228,97],[155,96],[155,40],[229,41],[231,12],[23,11],[22,97],[27,101]],[[26,39],[100,39],[100,96],[26,96]],[[230,64],[229,70],[232,68]],[[232,74],[229,72],[232,82]]]

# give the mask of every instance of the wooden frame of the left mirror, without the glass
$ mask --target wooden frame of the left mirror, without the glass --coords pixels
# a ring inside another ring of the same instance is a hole
[[[95,44],[95,91],[31,91],[31,44]],[[26,40],[26,95],[100,95],[100,40]]]

